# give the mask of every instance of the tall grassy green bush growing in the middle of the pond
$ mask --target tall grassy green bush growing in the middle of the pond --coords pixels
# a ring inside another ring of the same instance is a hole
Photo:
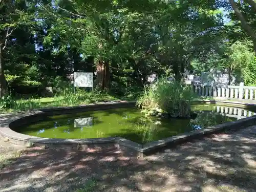
[[[190,104],[195,97],[190,86],[163,78],[145,88],[136,105],[146,110],[160,108],[165,113],[175,113],[181,117],[190,113]]]

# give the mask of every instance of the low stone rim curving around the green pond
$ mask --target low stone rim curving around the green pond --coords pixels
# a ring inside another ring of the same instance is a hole
[[[194,101],[195,104],[221,104],[224,106],[238,107],[250,109],[256,112],[256,104],[242,103],[238,101],[224,101],[224,100],[199,100]],[[238,130],[256,123],[256,115],[239,119],[237,121],[226,122],[210,127],[203,130],[182,133],[176,136],[164,138],[158,141],[152,141],[147,144],[139,144],[128,139],[121,137],[108,137],[108,138],[92,138],[92,139],[54,139],[54,138],[40,138],[29,136],[13,131],[11,128],[16,126],[25,125],[27,122],[36,122],[43,120],[44,117],[50,115],[79,113],[86,111],[99,111],[106,109],[127,108],[135,106],[135,101],[110,101],[97,104],[87,104],[73,107],[58,107],[49,109],[34,110],[32,113],[19,113],[7,114],[0,116],[0,136],[8,138],[8,140],[15,144],[26,145],[34,143],[35,145],[54,145],[54,144],[85,144],[90,146],[95,145],[118,145],[122,150],[133,151],[139,155],[151,154],[165,146],[175,146],[184,142],[189,142],[193,139],[200,139],[210,134],[223,132],[225,130]]]

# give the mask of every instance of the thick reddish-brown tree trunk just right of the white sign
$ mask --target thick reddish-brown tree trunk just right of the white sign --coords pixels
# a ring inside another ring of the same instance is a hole
[[[97,64],[97,76],[95,80],[96,89],[109,90],[110,89],[110,67],[108,61],[99,60]]]

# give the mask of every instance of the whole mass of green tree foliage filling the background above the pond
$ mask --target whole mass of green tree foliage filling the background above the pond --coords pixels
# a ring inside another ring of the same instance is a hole
[[[252,7],[237,4],[254,30]],[[98,60],[109,63],[111,93],[119,96],[141,91],[153,73],[180,80],[185,69],[228,69],[252,84],[253,44],[232,12],[227,12],[232,24],[223,24],[220,7],[231,10],[214,1],[2,1],[1,58],[8,90],[40,97],[45,87],[53,87],[59,97],[69,95],[73,87],[67,76],[73,70],[97,71]]]

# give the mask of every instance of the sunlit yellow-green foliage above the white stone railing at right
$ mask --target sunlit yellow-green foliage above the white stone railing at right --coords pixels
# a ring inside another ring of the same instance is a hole
[[[252,70],[254,52],[252,50],[252,42],[250,40],[235,41],[233,44],[226,42],[220,45],[218,52],[209,55],[206,62],[193,60],[194,70],[201,72],[209,72],[210,69],[217,69],[236,77],[236,81],[248,79]],[[248,67],[247,67],[248,66]],[[250,68],[250,69],[249,69]],[[248,80],[246,80],[248,81]],[[248,84],[248,83],[246,83]]]

